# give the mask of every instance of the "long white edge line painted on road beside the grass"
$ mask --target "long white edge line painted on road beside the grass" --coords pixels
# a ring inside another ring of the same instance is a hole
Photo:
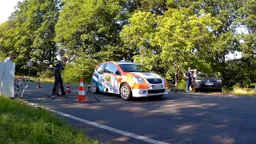
[[[136,138],[138,140],[142,140],[142,141],[150,142],[150,143],[156,143],[156,144],[168,144],[166,142],[161,142],[161,141],[157,141],[157,140],[154,140],[154,139],[151,139],[151,138],[146,138],[146,137],[138,135],[138,134],[129,133],[129,132],[126,132],[126,131],[123,131],[123,130],[118,130],[118,129],[115,129],[115,128],[110,127],[110,126],[104,126],[104,125],[96,123],[96,122],[90,122],[90,121],[87,121],[86,119],[78,118],[78,117],[75,117],[75,116],[70,115],[70,114],[65,114],[65,113],[62,113],[62,112],[57,111],[57,110],[51,110],[50,108],[47,108],[46,106],[39,106],[36,103],[30,103],[30,102],[26,102],[26,103],[28,103],[30,106],[41,107],[43,109],[50,110],[53,113],[60,114],[64,117],[72,118],[74,120],[84,122],[84,123],[87,123],[89,125],[96,126],[96,127],[99,127],[99,128],[105,129],[105,130],[110,130],[110,131],[118,133],[118,134],[126,135],[126,136],[131,137],[131,138]]]

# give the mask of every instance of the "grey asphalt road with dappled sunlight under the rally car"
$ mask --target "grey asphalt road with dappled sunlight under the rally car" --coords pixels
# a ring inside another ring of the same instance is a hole
[[[160,99],[123,101],[117,95],[96,94],[100,102],[91,98],[90,105],[75,101],[78,86],[70,86],[71,94],[67,98],[53,100],[48,98],[53,84],[41,84],[42,89],[36,89],[36,83],[30,83],[28,91],[32,98],[26,98],[28,102],[70,114],[71,118],[63,118],[102,143],[249,144],[256,141],[254,97],[170,93]]]

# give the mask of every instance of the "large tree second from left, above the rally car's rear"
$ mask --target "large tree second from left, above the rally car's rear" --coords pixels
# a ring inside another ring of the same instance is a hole
[[[114,53],[118,54],[122,49],[118,31],[122,29],[122,22],[126,18],[126,13],[122,11],[122,6],[126,6],[124,2],[124,0],[64,1],[65,6],[55,26],[55,42],[59,42],[73,54],[80,52],[90,54],[92,59],[105,58],[104,56],[117,57]],[[120,57],[119,55],[119,59]]]

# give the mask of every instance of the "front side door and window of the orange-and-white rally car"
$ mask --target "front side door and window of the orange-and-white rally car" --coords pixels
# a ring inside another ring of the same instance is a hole
[[[118,93],[117,74],[115,74],[117,70],[118,68],[114,63],[106,63],[104,70],[104,86],[106,86],[110,93]]]

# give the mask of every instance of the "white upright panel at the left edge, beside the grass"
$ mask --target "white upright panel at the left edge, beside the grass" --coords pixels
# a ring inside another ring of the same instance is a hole
[[[14,62],[0,62],[0,95],[14,97]]]

